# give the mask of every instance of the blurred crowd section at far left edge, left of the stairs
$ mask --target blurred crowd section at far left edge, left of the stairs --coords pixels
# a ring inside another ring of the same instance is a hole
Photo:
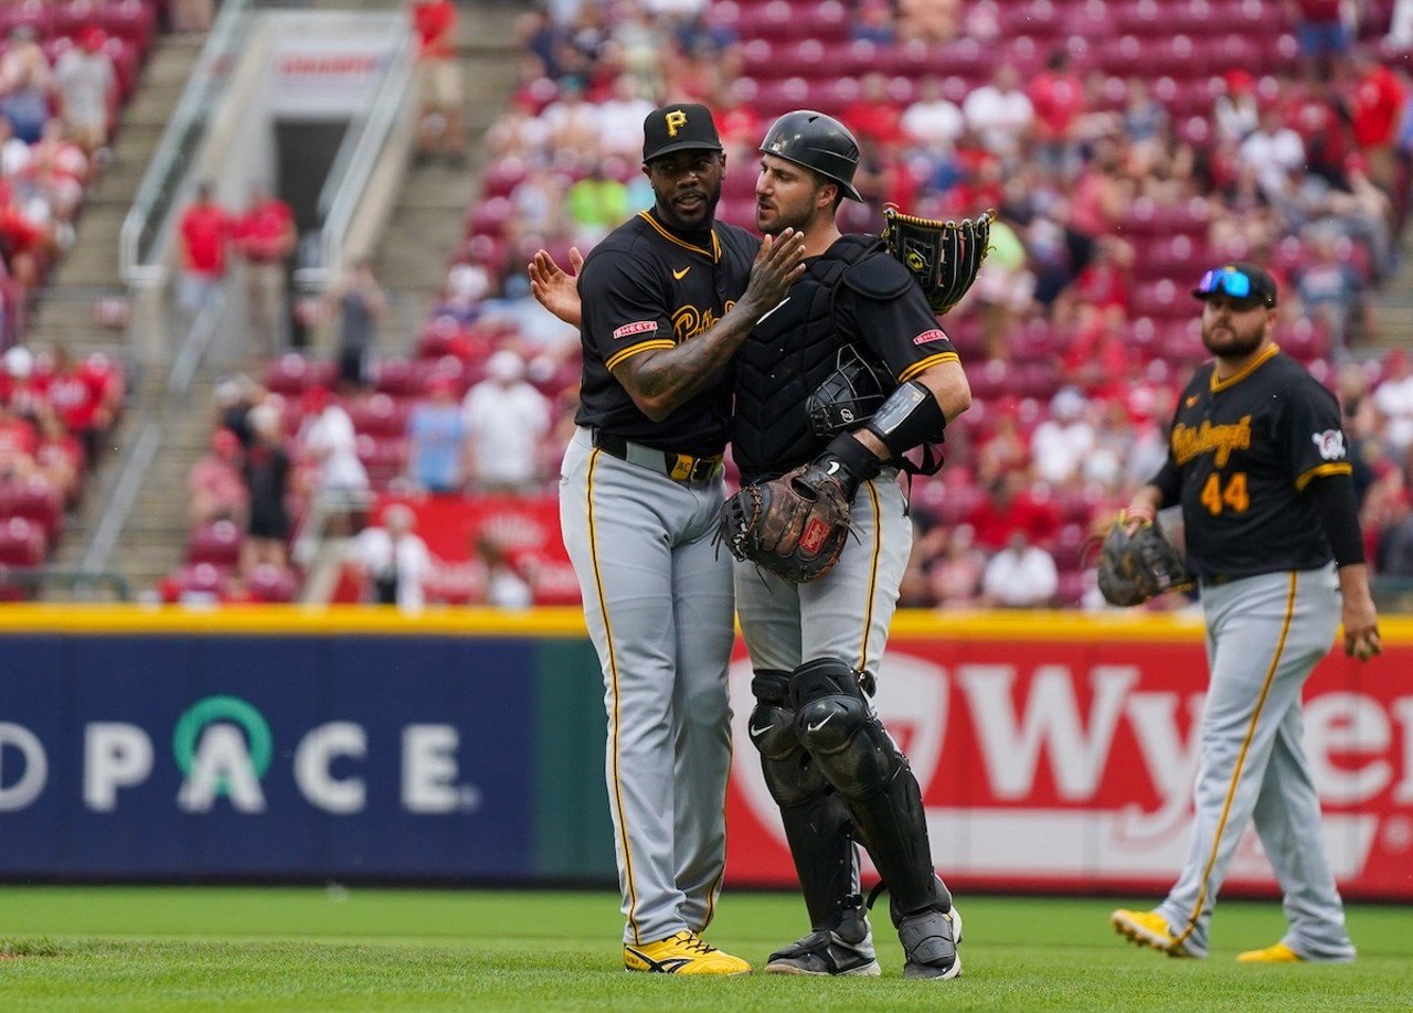
[[[122,362],[31,348],[25,321],[75,243],[158,14],[155,0],[0,6],[0,599],[32,595],[11,576],[51,558],[122,411]]]

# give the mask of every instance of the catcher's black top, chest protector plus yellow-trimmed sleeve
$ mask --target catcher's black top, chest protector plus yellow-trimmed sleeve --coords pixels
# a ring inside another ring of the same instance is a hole
[[[923,290],[872,236],[842,236],[808,257],[804,278],[736,353],[732,455],[743,480],[781,475],[824,449],[805,404],[845,346],[897,383],[957,359]]]

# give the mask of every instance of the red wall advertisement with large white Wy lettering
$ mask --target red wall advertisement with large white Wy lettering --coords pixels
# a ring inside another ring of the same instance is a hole
[[[875,698],[921,786],[944,879],[965,889],[1166,890],[1191,842],[1207,685],[1200,629],[1143,640],[1065,632],[1057,619],[1019,636],[986,623],[959,637],[894,629]],[[1400,677],[1410,664],[1405,646],[1366,665],[1337,647],[1306,687],[1325,845],[1349,896],[1413,899],[1413,687]],[[732,671],[728,880],[788,886],[780,818],[746,745],[752,706],[742,656]],[[1224,891],[1276,891],[1253,829]]]

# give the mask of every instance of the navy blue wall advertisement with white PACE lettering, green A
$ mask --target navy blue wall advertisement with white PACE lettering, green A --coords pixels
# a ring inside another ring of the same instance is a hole
[[[0,876],[530,870],[524,641],[4,646]]]

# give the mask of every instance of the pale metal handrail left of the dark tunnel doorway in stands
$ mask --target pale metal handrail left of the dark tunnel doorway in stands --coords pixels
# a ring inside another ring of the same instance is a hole
[[[220,14],[196,59],[187,90],[162,131],[133,198],[133,206],[123,219],[117,240],[123,281],[134,284],[161,276],[161,267],[151,263],[157,239],[191,170],[192,155],[206,137],[208,116],[216,107],[220,92],[230,83],[236,58],[250,34],[253,18],[246,14],[252,6],[252,0],[225,0],[220,6]]]

